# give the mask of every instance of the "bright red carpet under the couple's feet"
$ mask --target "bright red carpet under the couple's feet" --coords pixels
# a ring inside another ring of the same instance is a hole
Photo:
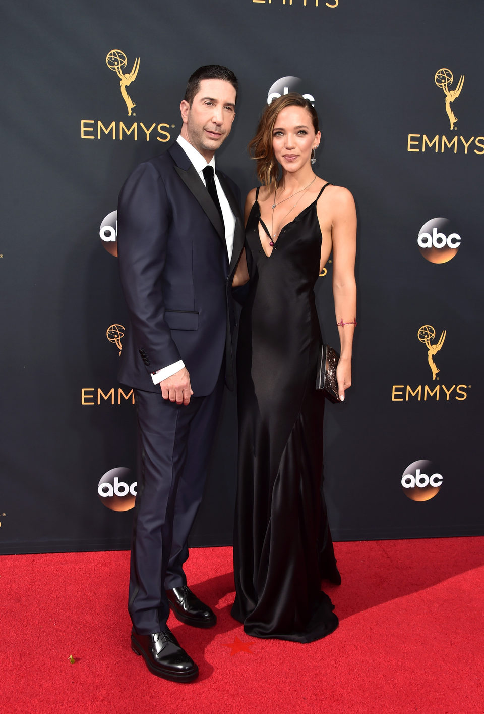
[[[336,543],[343,584],[325,589],[340,625],[310,645],[245,635],[230,617],[232,550],[191,550],[189,583],[218,623],[170,620],[200,667],[187,685],[154,677],[130,650],[128,553],[0,556],[1,711],[483,712],[483,545]]]

